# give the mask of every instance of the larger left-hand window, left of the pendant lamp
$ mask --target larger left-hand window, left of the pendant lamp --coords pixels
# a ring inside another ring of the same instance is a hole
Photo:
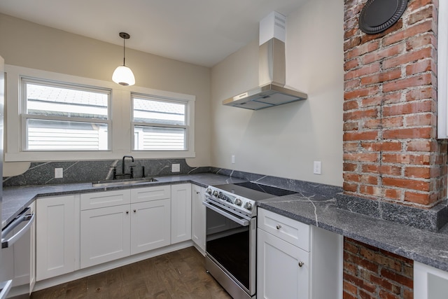
[[[107,89],[22,78],[22,150],[109,150],[110,97]]]

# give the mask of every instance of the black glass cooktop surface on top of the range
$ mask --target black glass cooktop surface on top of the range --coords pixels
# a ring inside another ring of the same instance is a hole
[[[235,195],[246,197],[249,200],[266,200],[276,196],[290,195],[297,192],[285,190],[272,186],[260,185],[258,183],[244,182],[244,183],[229,183],[224,185],[214,186],[221,190],[234,193]]]

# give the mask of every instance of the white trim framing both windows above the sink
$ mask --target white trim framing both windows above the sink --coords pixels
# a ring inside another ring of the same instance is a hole
[[[178,92],[154,90],[139,86],[122,86],[109,81],[59,74],[6,64],[6,130],[5,161],[67,161],[67,160],[116,160],[131,154],[137,159],[195,158],[195,96]],[[79,85],[109,88],[111,93],[111,143],[110,151],[22,151],[22,120],[20,116],[20,77],[34,77]],[[132,151],[131,92],[155,97],[167,97],[188,102],[187,151]]]

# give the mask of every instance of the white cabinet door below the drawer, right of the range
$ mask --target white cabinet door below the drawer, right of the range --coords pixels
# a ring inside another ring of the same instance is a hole
[[[308,299],[309,253],[258,228],[257,298]]]

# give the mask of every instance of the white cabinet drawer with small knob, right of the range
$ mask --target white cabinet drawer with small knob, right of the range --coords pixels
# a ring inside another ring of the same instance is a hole
[[[258,208],[258,228],[309,251],[309,225]]]

